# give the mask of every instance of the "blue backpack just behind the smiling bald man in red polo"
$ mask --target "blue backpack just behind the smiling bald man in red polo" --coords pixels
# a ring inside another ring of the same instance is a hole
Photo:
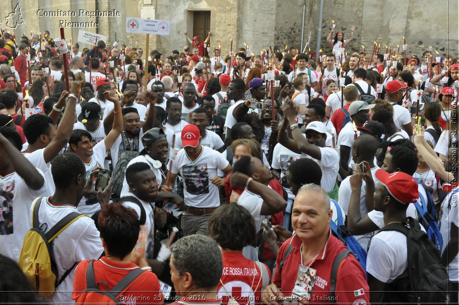
[[[334,221],[330,221],[331,231],[333,231],[336,237],[339,240],[341,240],[342,243],[344,243],[347,249],[352,251],[358,263],[362,266],[362,268],[364,268],[365,274],[367,275],[368,279],[368,274],[366,273],[367,253],[362,248],[360,243],[358,243],[357,239],[355,239],[355,237],[353,237],[353,235],[349,231],[347,231],[347,227],[344,225],[343,215],[341,214],[340,205],[335,200],[330,200],[333,201],[333,203],[335,204],[336,216],[338,217],[337,226]]]

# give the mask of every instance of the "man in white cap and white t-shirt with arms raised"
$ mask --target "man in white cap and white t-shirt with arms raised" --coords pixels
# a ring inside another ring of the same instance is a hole
[[[287,97],[287,102],[282,106],[285,120],[280,127],[277,140],[292,152],[301,153],[302,157],[311,158],[317,162],[323,173],[320,182],[321,186],[329,194],[330,198],[336,199],[338,197],[336,176],[339,169],[339,155],[333,148],[325,146],[327,139],[325,125],[319,121],[310,122],[305,128],[306,138],[304,138],[295,120],[296,110],[290,101],[290,98]],[[289,138],[285,131],[289,125],[293,139]]]

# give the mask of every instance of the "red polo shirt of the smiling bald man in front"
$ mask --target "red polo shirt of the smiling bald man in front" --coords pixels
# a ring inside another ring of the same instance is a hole
[[[279,274],[279,265],[284,258],[284,251],[291,242],[293,251],[287,257],[284,263],[282,273]],[[273,283],[280,287],[280,291],[285,297],[291,296],[292,290],[295,287],[297,280],[298,266],[301,264],[301,239],[294,234],[291,238],[285,241],[280,247],[277,256],[277,266],[274,272]],[[327,304],[330,294],[330,277],[331,267],[335,257],[342,251],[347,250],[341,241],[331,234],[328,242],[320,251],[317,258],[311,264],[311,268],[317,270],[314,287],[311,294],[311,304]],[[308,266],[311,262],[303,262],[303,265]],[[359,292],[363,289],[364,293]],[[353,255],[347,256],[342,262],[336,279],[335,297],[340,304],[369,304],[369,287],[365,272],[358,264],[358,261]],[[357,294],[357,296],[355,296]]]

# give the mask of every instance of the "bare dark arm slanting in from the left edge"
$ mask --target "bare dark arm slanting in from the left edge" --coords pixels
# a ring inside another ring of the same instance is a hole
[[[32,165],[1,133],[0,146],[3,147],[8,158],[10,158],[14,170],[24,179],[28,187],[33,190],[39,190],[45,184],[45,179],[34,165]]]

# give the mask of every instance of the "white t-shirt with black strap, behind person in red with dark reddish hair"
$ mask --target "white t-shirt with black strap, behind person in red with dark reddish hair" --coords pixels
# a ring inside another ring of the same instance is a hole
[[[140,203],[142,203],[143,208],[145,209],[145,224],[140,227],[140,232],[145,234],[146,240],[145,240],[145,257],[149,260],[154,259],[155,257],[153,256],[153,251],[154,251],[154,230],[155,230],[155,216],[153,215],[153,208],[151,207],[151,204],[143,201],[139,197],[135,196],[131,192],[127,192],[124,194],[124,196],[133,196],[137,199],[139,199]],[[131,208],[134,209],[137,215],[139,215],[139,220],[140,220],[140,206],[137,203],[130,202],[130,201],[125,201],[123,205],[126,208]]]

